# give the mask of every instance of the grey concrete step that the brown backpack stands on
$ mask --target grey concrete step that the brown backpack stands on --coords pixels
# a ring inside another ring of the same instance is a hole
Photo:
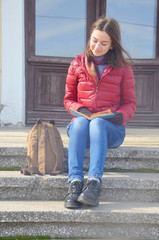
[[[0,172],[0,200],[64,201],[67,190],[67,174],[24,176],[20,172]],[[100,201],[158,202],[159,174],[104,173]]]

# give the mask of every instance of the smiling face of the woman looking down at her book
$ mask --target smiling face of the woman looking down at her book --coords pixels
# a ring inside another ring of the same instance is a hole
[[[112,49],[110,36],[104,31],[94,30],[90,38],[90,49],[95,57],[106,54]]]

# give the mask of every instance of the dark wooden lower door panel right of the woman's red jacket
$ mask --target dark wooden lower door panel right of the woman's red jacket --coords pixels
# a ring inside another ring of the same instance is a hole
[[[136,113],[128,126],[159,126],[159,61],[143,60],[133,67],[135,76]]]

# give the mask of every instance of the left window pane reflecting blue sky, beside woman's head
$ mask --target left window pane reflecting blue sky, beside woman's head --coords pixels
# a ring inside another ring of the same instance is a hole
[[[86,0],[36,0],[36,55],[74,57],[85,45]]]

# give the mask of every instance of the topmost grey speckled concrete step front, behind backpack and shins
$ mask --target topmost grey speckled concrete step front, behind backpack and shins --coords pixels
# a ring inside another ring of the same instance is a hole
[[[64,148],[67,160],[68,150]],[[3,167],[25,167],[27,166],[26,147],[0,147],[0,168]],[[89,150],[86,150],[84,167],[89,167]],[[158,147],[132,147],[121,146],[108,149],[105,168],[120,169],[158,169],[159,170],[159,148]]]

